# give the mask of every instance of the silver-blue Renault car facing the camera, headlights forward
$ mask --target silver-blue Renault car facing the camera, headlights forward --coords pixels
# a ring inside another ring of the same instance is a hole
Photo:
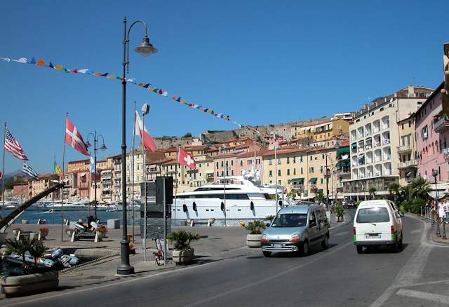
[[[262,233],[262,252],[296,252],[307,255],[309,247],[329,247],[329,221],[322,205],[297,205],[279,210]]]

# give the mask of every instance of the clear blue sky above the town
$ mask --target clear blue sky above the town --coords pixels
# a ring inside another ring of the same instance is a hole
[[[69,68],[121,75],[123,16],[143,19],[159,53],[130,55],[130,78],[152,82],[257,125],[354,111],[408,83],[441,82],[449,41],[445,1],[5,1],[0,57],[36,57]],[[143,29],[133,28],[130,46]],[[0,62],[0,121],[38,172],[60,163],[64,116],[86,136],[105,136],[120,153],[121,84],[44,67]],[[199,135],[236,128],[200,111],[128,86],[151,105],[152,135]],[[83,158],[67,147],[66,160]],[[6,153],[6,173],[21,163]]]

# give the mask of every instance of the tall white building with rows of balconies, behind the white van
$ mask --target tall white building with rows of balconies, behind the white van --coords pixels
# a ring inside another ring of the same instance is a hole
[[[344,196],[366,198],[372,188],[385,195],[391,183],[398,183],[398,122],[410,117],[432,92],[408,86],[358,111],[349,126],[351,179],[344,181]]]

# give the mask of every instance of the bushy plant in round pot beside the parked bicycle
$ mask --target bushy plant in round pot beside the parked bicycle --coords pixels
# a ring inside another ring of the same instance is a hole
[[[191,233],[185,230],[168,234],[168,241],[173,243],[175,247],[175,250],[173,250],[173,261],[176,264],[189,264],[195,256],[195,251],[190,247],[190,243],[199,240],[199,238],[198,233]]]

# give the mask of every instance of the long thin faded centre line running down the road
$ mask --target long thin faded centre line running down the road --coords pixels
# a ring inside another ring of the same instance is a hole
[[[328,257],[330,254],[335,254],[335,252],[338,252],[338,251],[342,250],[343,248],[345,248],[345,247],[347,247],[347,246],[349,246],[349,245],[352,245],[352,244],[353,244],[352,242],[349,242],[349,243],[344,244],[344,245],[342,245],[342,246],[340,246],[340,247],[334,247],[333,249],[328,250],[328,252],[323,252],[323,254],[321,254],[320,256],[318,256],[318,257],[312,259],[311,261],[307,261],[305,264],[300,264],[299,266],[294,266],[293,268],[289,268],[289,269],[286,270],[286,271],[277,273],[277,274],[275,274],[275,275],[271,275],[271,276],[269,276],[269,277],[267,277],[267,278],[263,278],[263,279],[261,279],[261,280],[258,280],[257,282],[251,282],[250,284],[245,285],[245,286],[243,286],[243,287],[238,287],[238,288],[230,289],[230,290],[228,290],[228,291],[226,291],[226,292],[222,292],[222,293],[217,294],[217,295],[214,295],[214,296],[209,296],[209,297],[207,297],[206,299],[201,299],[201,300],[199,300],[199,301],[195,301],[194,303],[188,303],[188,304],[186,304],[186,305],[184,305],[184,306],[186,306],[186,307],[188,307],[188,306],[198,306],[198,305],[201,305],[201,304],[206,303],[206,302],[208,302],[208,301],[213,301],[213,300],[215,300],[215,299],[219,299],[220,297],[227,296],[227,295],[229,295],[229,294],[233,294],[233,293],[236,293],[236,292],[240,292],[240,291],[242,291],[242,290],[244,290],[244,289],[248,289],[249,287],[254,287],[255,285],[260,285],[260,284],[262,284],[262,283],[264,283],[264,282],[267,282],[267,281],[269,281],[269,280],[273,280],[273,279],[275,279],[275,278],[279,278],[279,277],[282,276],[282,275],[285,275],[285,274],[287,274],[287,273],[290,273],[290,272],[292,272],[292,271],[295,271],[295,270],[297,270],[297,269],[300,269],[300,268],[302,268],[302,267],[304,267],[304,266],[308,266],[309,264],[313,264],[314,262],[319,261],[319,260],[323,259],[324,257]]]

